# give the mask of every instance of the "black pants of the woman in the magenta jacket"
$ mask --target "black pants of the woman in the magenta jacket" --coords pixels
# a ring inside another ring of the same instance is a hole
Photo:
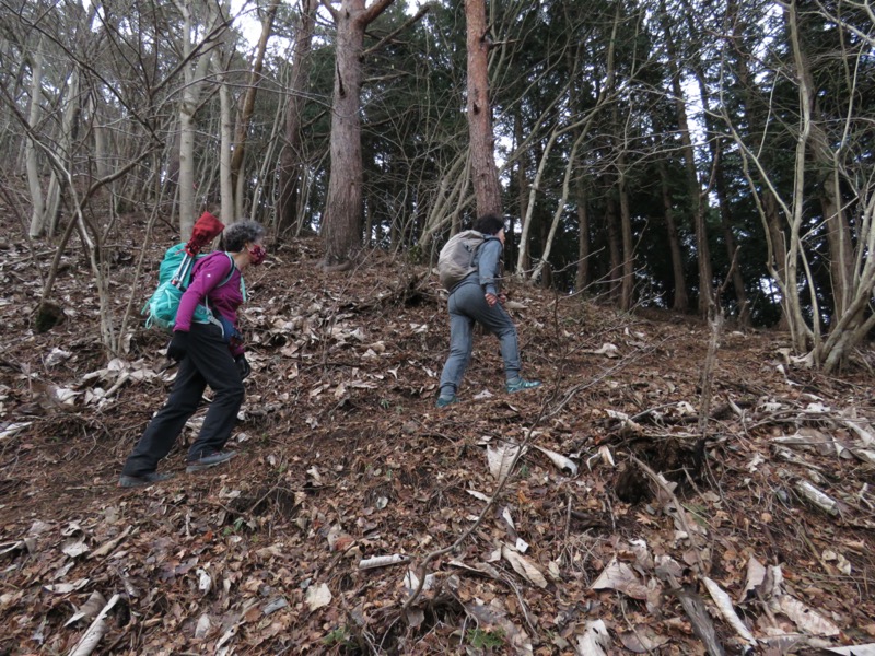
[[[149,422],[121,473],[144,476],[155,470],[159,460],[173,448],[185,422],[198,409],[207,385],[214,396],[200,434],[188,452],[189,460],[220,450],[225,445],[245,394],[237,366],[222,340],[221,328],[212,324],[191,324],[188,352],[179,362],[171,396]]]

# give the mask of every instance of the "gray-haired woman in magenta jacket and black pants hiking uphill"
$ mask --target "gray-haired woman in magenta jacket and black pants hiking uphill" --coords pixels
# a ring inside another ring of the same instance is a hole
[[[172,478],[173,475],[159,473],[158,464],[173,448],[208,385],[213,399],[188,450],[186,471],[214,467],[235,456],[233,450],[222,448],[231,437],[243,403],[243,379],[249,374],[237,330],[237,307],[246,301],[243,272],[265,259],[264,235],[265,229],[255,221],[234,223],[224,231],[228,251],[217,250],[195,265],[167,347],[167,356],[179,363],[176,382],[167,402],[128,456],[118,481],[120,487],[137,488]],[[194,320],[198,305],[207,305],[212,312],[209,323]]]

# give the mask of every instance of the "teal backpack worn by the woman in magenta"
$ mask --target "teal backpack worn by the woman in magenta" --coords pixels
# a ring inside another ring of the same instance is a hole
[[[164,259],[161,260],[161,267],[158,273],[158,288],[152,292],[152,296],[143,306],[141,314],[145,319],[145,327],[151,328],[158,326],[165,332],[173,332],[173,327],[176,324],[176,312],[179,309],[179,301],[183,294],[191,283],[191,270],[195,268],[195,262],[207,255],[198,255],[191,257],[186,251],[186,244],[177,244],[171,246],[164,254]],[[231,270],[228,272],[225,279],[219,283],[222,286],[234,274],[234,259],[231,254],[225,253],[228,259],[231,260]],[[241,278],[241,288],[243,279]],[[244,297],[246,292],[243,292]],[[192,320],[196,324],[212,324],[217,319],[213,317],[212,311],[205,298],[203,305],[198,305],[195,309]]]

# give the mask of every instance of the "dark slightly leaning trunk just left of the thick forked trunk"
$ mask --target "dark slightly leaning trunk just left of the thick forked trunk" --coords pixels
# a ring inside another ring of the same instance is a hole
[[[292,55],[292,79],[289,81],[289,97],[285,107],[285,143],[280,153],[277,222],[279,233],[290,231],[298,221],[302,153],[301,116],[304,109],[307,79],[310,77],[311,43],[316,24],[318,0],[302,0],[301,19]]]

